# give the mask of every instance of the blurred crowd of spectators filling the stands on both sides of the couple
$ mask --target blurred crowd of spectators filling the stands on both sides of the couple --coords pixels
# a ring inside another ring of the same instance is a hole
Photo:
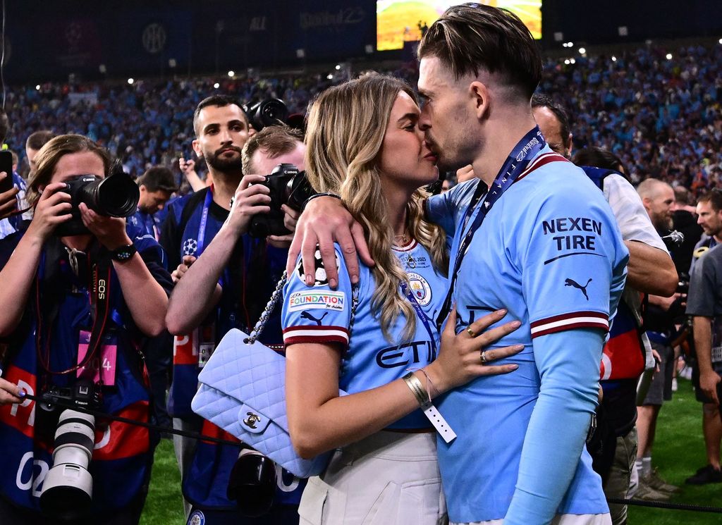
[[[539,90],[567,107],[575,149],[601,146],[622,159],[633,182],[655,177],[698,195],[722,174],[720,64],[722,45],[671,51],[648,45],[617,56],[590,53],[574,63],[550,58]],[[394,73],[415,85],[413,68]],[[343,79],[313,74],[10,89],[10,136],[17,141],[10,146],[21,156],[20,169],[27,170],[22,141],[32,131],[82,133],[139,176],[152,165],[191,158],[193,107],[208,94],[246,102],[278,97],[291,113],[305,113],[316,93]]]

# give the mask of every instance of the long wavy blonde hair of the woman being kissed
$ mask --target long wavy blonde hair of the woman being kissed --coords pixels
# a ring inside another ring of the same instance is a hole
[[[399,314],[406,318],[404,340],[413,337],[416,315],[401,296],[399,283],[409,278],[393,255],[394,231],[386,216],[387,202],[381,186],[381,146],[391,108],[399,93],[418,102],[408,84],[391,76],[367,74],[326,89],[312,103],[306,131],[305,168],[318,191],[341,195],[344,204],[362,224],[376,265],[376,289],[371,309],[390,339],[389,329]],[[447,273],[448,254],[443,231],[424,219],[425,190],[417,190],[406,205],[406,226],[414,239],[429,251],[432,263]]]

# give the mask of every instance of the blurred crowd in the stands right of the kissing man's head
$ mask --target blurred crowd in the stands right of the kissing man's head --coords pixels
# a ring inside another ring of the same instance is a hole
[[[633,182],[654,177],[698,195],[722,174],[721,63],[721,45],[547,61],[540,90],[567,107],[575,149],[603,147]]]

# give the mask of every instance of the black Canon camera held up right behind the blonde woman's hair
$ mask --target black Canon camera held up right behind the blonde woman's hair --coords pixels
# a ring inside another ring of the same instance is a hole
[[[290,234],[283,224],[281,205],[287,204],[295,211],[301,211],[306,199],[316,193],[306,178],[306,172],[300,172],[293,164],[279,164],[259,184],[271,190],[271,211],[254,215],[249,233],[253,237]]]

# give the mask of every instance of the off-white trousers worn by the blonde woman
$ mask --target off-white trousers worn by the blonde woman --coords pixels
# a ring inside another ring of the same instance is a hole
[[[445,525],[436,434],[381,431],[337,450],[298,513],[301,525]]]

